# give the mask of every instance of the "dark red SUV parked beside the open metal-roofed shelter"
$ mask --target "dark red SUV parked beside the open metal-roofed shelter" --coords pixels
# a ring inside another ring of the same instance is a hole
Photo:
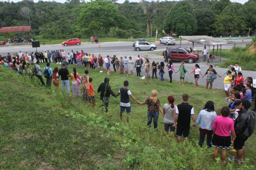
[[[188,63],[193,63],[198,61],[200,56],[197,53],[190,52],[184,48],[169,48],[168,60],[180,60],[187,61]]]

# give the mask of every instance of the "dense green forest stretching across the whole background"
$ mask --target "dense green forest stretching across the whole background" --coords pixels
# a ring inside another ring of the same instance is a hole
[[[143,1],[143,0],[142,0]],[[83,2],[0,1],[0,26],[29,26],[28,37],[45,39],[98,37],[138,38],[176,35],[239,35],[256,29],[256,0],[141,2],[94,0]],[[146,12],[145,12],[146,8]],[[149,34],[148,21],[152,24]],[[165,30],[163,32],[162,30]],[[250,32],[252,33],[252,31]],[[12,33],[24,36],[25,33]],[[6,38],[6,34],[0,34]]]

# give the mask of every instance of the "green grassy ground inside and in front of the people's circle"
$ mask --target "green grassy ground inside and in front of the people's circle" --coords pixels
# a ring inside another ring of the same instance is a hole
[[[40,67],[45,65],[40,64]],[[54,66],[51,64],[50,67]],[[70,72],[73,67],[69,65]],[[84,67],[76,68],[82,75]],[[146,105],[138,105],[131,99],[131,123],[127,124],[119,119],[120,98],[111,96],[109,114],[105,114],[99,95],[96,97],[97,108],[93,109],[80,98],[69,97],[61,90],[61,83],[59,90],[49,90],[39,86],[36,77],[29,79],[3,67],[0,71],[0,85],[5,89],[0,93],[1,169],[255,169],[252,167],[256,161],[255,133],[245,146],[245,157],[250,161],[237,165],[226,158],[229,164],[222,167],[210,162],[213,149],[207,150],[205,143],[203,148],[198,147],[198,128],[190,129],[187,149],[184,142],[178,145],[176,138],[163,137],[161,116],[159,132],[154,134],[151,127],[148,133]],[[93,78],[96,90],[108,76],[115,93],[128,80],[128,88],[140,102],[156,89],[161,106],[167,103],[170,95],[175,97],[175,105],[180,104],[182,94],[187,93],[196,117],[208,100],[214,101],[218,115],[227,105],[220,89],[210,91],[202,86],[194,89],[193,83],[182,87],[175,81],[170,84],[168,80],[140,80],[93,70],[89,70],[88,75]],[[232,154],[227,151],[227,157]]]

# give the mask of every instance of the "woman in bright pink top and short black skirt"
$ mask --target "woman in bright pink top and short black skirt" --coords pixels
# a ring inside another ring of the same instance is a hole
[[[211,144],[215,147],[212,155],[212,162],[215,161],[217,157],[219,148],[221,150],[221,160],[222,165],[225,165],[227,162],[225,161],[226,151],[231,147],[231,138],[230,132],[233,136],[233,139],[236,139],[236,133],[234,132],[234,122],[232,119],[228,117],[230,113],[230,109],[227,106],[222,107],[221,116],[217,116],[214,119],[212,130],[213,130],[213,138]]]

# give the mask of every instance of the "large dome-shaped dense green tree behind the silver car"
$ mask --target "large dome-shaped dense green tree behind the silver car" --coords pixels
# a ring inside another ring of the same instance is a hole
[[[196,15],[187,1],[179,1],[171,7],[163,23],[163,30],[177,36],[195,34]]]

